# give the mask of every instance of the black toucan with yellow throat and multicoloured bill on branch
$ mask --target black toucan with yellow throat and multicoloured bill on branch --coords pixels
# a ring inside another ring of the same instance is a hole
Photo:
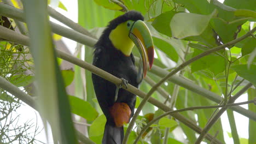
[[[92,74],[98,104],[106,116],[103,144],[122,143],[124,124],[133,116],[136,95],[121,88],[138,87],[154,61],[154,44],[150,31],[138,11],[128,11],[110,21],[94,48],[93,65],[119,77],[123,82],[115,85]],[[138,70],[132,49],[136,45],[141,55]],[[120,88],[120,89],[119,89]]]

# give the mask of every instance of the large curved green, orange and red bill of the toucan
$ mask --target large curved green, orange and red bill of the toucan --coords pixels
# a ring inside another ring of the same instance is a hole
[[[139,71],[141,71],[141,65],[143,65],[143,77],[145,77],[147,74],[147,61],[149,62],[149,69],[151,69],[154,61],[154,44],[152,36],[147,25],[143,21],[138,20],[132,23],[129,37],[139,50],[142,58],[142,64],[139,66]]]

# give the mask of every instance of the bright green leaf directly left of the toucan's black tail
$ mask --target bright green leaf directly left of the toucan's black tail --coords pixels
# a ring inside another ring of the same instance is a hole
[[[101,115],[95,119],[95,121],[91,124],[90,131],[89,131],[89,137],[92,136],[103,136],[104,133],[104,127],[106,124],[106,117],[104,115]],[[102,139],[102,137],[101,137]]]

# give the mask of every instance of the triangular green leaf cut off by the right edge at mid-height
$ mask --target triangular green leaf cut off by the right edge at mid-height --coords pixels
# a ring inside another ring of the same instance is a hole
[[[249,69],[247,68],[247,64],[232,65],[231,69],[235,70],[239,76],[253,83],[253,85],[256,85],[256,65],[252,64]]]

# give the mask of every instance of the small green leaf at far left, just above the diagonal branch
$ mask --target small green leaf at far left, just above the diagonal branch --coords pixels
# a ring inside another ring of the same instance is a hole
[[[11,76],[9,81],[13,83],[16,87],[25,87],[30,85],[34,81],[34,76],[32,75],[14,75]]]

